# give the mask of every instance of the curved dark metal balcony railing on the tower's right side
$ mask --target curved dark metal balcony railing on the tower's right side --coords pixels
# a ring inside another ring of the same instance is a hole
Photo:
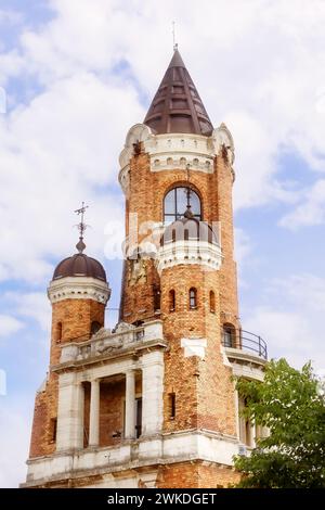
[[[256,353],[263,359],[268,359],[266,343],[255,333],[245,330],[222,330],[222,345],[229,348],[237,348]]]

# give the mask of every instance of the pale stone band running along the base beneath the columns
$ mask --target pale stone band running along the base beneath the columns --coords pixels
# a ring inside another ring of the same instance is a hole
[[[136,458],[134,447],[136,445]],[[23,486],[41,485],[95,473],[117,473],[139,467],[155,467],[188,460],[203,460],[233,466],[239,451],[236,437],[210,431],[184,431],[159,434],[138,441],[125,441],[118,447],[101,447],[56,452],[27,461],[27,482]],[[74,467],[74,468],[72,468]]]

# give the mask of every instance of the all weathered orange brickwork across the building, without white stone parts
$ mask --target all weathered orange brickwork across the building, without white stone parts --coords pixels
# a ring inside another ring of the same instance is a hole
[[[216,157],[214,173],[191,171],[191,186],[202,197],[203,219],[221,222],[223,263],[220,271],[207,271],[198,265],[176,266],[162,271],[161,280],[153,260],[146,260],[146,275],[132,280],[127,267],[122,282],[121,319],[127,322],[158,317],[154,310],[154,285],[160,285],[161,318],[165,337],[169,342],[165,355],[164,430],[208,429],[234,435],[235,405],[231,369],[224,365],[221,345],[221,326],[238,326],[236,266],[233,260],[233,177],[223,156]],[[138,214],[138,225],[162,220],[164,196],[169,189],[186,186],[187,173],[164,170],[152,173],[147,154],[131,161],[128,213]],[[150,234],[150,228],[140,233],[139,241]],[[131,263],[128,262],[128,266]],[[188,309],[188,290],[197,289],[198,307]],[[169,310],[169,291],[176,290],[177,307]],[[210,311],[209,292],[216,295],[216,313]],[[76,337],[84,340],[91,322],[104,322],[104,306],[93,301],[66,299],[53,305],[51,365],[57,364],[61,345]],[[57,323],[63,323],[62,340],[57,342]],[[184,357],[182,337],[205,337],[208,341],[205,359]],[[78,341],[78,340],[77,340]],[[107,388],[105,388],[107,386]],[[109,387],[108,387],[109,386]],[[139,391],[139,387],[138,387]],[[170,419],[168,395],[176,394],[176,417]],[[122,424],[125,382],[102,383],[100,444],[119,442],[112,433]],[[36,398],[30,456],[48,455],[55,445],[50,442],[51,418],[56,417],[57,379],[50,372],[46,392]],[[86,392],[86,415],[89,416],[89,390]],[[86,419],[86,433],[89,421]],[[159,487],[227,486],[238,477],[232,469],[203,462],[182,462],[160,467]],[[82,485],[82,480],[79,481]],[[86,483],[86,482],[84,482]]]

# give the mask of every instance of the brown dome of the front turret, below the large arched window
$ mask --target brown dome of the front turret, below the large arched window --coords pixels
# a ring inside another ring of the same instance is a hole
[[[160,239],[160,245],[177,241],[206,241],[219,244],[218,235],[206,221],[194,217],[184,217],[169,225]]]

